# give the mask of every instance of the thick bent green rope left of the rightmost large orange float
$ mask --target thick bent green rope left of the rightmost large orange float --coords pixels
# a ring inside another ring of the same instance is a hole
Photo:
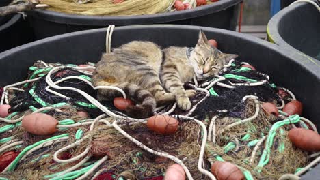
[[[291,123],[297,123],[300,121],[299,115],[292,115],[289,116],[287,119],[284,119],[283,121],[278,121],[272,125],[271,129],[269,130],[269,135],[267,137],[267,140],[265,142],[265,149],[263,149],[263,154],[261,155],[260,161],[258,163],[259,168],[263,168],[268,162],[269,162],[269,156],[271,153],[271,146],[274,142],[274,136],[276,136],[276,130],[279,127],[282,127],[283,125],[288,125]],[[261,172],[261,170],[258,170]]]

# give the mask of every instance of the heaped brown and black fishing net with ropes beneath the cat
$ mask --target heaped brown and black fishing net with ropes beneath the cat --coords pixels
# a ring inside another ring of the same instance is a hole
[[[230,61],[219,75],[186,83],[185,89],[197,91],[191,110],[176,104],[157,108],[156,115],[178,121],[174,134],[163,135],[150,130],[146,119],[133,119],[113,102],[95,99],[94,63],[38,61],[27,80],[3,88],[1,104],[10,104],[11,114],[0,118],[0,161],[5,153],[15,155],[0,166],[0,177],[163,179],[168,166],[178,163],[189,179],[210,179],[204,171],[216,161],[236,164],[246,179],[304,171],[316,155],[294,147],[287,134],[314,125],[281,110],[279,116],[266,112],[263,102],[282,109],[295,99],[293,93],[242,65]],[[280,89],[286,94],[280,95]],[[57,131],[37,136],[21,127],[23,117],[35,112],[57,119]]]

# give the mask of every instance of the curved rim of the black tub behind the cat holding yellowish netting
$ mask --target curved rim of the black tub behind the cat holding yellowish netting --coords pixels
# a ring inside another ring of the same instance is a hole
[[[80,14],[67,14],[54,12],[52,10],[33,10],[27,12],[35,18],[48,20],[55,23],[70,25],[139,25],[167,23],[177,20],[196,18],[207,14],[213,14],[229,7],[237,5],[243,0],[220,0],[209,5],[202,5],[190,10],[164,12],[157,14],[135,15],[135,16],[85,16]]]

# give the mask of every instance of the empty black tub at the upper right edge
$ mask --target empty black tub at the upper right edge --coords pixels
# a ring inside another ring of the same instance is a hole
[[[320,12],[310,3],[297,3],[284,8],[268,23],[270,42],[308,55],[308,61],[315,61],[320,68]],[[317,60],[318,61],[317,61]]]

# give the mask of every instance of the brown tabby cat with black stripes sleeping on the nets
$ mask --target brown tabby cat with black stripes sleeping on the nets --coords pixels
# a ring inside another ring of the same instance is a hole
[[[94,86],[114,86],[123,89],[137,106],[127,106],[126,113],[135,118],[153,115],[156,106],[176,102],[189,110],[196,91],[185,90],[185,82],[196,75],[198,80],[215,76],[237,55],[224,54],[208,43],[200,30],[195,48],[171,46],[161,50],[157,44],[133,41],[105,53],[96,64],[92,76]],[[98,100],[122,97],[119,91],[98,89]]]

